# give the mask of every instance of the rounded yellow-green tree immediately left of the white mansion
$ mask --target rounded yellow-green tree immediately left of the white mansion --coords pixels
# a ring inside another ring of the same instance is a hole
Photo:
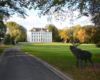
[[[26,29],[16,22],[7,22],[8,33],[13,40],[26,41]]]

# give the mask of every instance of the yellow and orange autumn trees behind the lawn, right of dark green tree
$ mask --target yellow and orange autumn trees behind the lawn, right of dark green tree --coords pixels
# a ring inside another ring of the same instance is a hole
[[[95,27],[93,25],[86,25],[83,27],[76,25],[70,28],[64,28],[64,30],[60,32],[60,36],[64,41],[95,43],[98,47],[100,46],[100,27]]]

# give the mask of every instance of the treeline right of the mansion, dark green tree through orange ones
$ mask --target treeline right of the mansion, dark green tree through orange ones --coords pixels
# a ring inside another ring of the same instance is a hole
[[[53,42],[80,42],[100,45],[100,27],[76,25],[65,27],[61,30],[50,24],[45,26],[45,28],[52,32]]]

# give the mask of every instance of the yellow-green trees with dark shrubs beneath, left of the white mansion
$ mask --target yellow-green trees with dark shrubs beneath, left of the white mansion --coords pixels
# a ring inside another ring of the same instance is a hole
[[[16,42],[27,41],[26,28],[22,25],[17,24],[16,22],[10,21],[6,24],[8,32],[5,37],[6,44],[14,44]]]

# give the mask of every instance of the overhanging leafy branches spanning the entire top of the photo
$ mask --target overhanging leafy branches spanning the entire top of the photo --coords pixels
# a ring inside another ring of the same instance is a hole
[[[0,17],[8,18],[15,13],[25,18],[26,9],[38,9],[39,16],[54,14],[56,20],[65,20],[73,12],[80,16],[91,15],[92,22],[100,26],[100,0],[0,0]],[[67,14],[65,14],[67,13]],[[48,19],[52,19],[49,17]]]

